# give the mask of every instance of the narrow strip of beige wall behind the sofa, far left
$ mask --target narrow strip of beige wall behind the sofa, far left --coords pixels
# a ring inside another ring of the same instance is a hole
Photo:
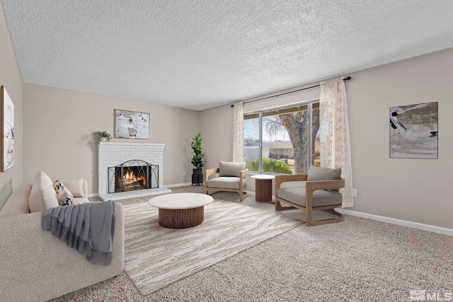
[[[14,103],[14,166],[0,173],[0,209],[22,182],[22,80],[0,3],[0,86],[5,86]]]

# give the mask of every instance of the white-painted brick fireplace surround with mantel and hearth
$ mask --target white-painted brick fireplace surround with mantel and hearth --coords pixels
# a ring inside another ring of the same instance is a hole
[[[154,143],[101,142],[98,146],[99,197],[103,200],[117,200],[171,192],[163,187],[164,146],[165,144]],[[115,178],[111,173],[109,176],[109,168],[137,160],[157,166],[154,170],[158,169],[159,178],[154,178],[158,182],[153,186],[154,188],[109,193],[109,183],[115,182],[115,179],[109,179]]]

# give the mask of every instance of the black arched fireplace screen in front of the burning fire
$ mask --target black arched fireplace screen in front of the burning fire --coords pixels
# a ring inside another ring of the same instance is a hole
[[[159,187],[159,165],[134,159],[108,168],[109,193],[156,187]]]

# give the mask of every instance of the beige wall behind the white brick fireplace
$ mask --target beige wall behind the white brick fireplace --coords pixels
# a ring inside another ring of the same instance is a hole
[[[23,103],[24,182],[44,170],[52,179],[86,178],[88,193],[97,193],[93,134],[101,130],[113,135],[115,109],[149,112],[150,139],[112,141],[165,144],[164,185],[191,182],[189,142],[200,131],[198,111],[30,84],[23,85]]]

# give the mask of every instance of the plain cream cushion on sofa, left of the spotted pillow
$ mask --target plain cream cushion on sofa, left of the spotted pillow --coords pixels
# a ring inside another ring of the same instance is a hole
[[[31,187],[28,207],[30,212],[44,211],[52,207],[58,207],[57,193],[55,192],[52,180],[43,171],[36,174]]]

